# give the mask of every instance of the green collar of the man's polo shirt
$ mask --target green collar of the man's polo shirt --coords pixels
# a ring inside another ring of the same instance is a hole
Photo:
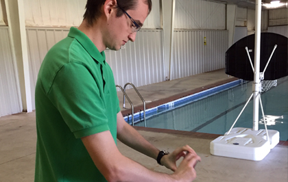
[[[89,53],[89,55],[91,55],[91,57],[94,58],[94,60],[100,64],[105,64],[106,56],[104,51],[100,53],[95,44],[93,44],[86,34],[75,27],[71,27],[68,36],[75,38],[78,42],[80,42],[82,47],[84,47],[84,49]]]

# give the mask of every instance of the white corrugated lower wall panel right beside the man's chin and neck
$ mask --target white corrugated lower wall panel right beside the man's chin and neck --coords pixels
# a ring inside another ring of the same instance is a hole
[[[124,86],[132,82],[136,87],[165,81],[163,62],[163,31],[141,30],[135,42],[128,42],[120,51],[106,51],[115,83]]]

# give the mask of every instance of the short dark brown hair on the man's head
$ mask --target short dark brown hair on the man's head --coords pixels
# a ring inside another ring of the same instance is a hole
[[[87,0],[86,3],[86,11],[83,15],[83,18],[86,19],[88,25],[93,25],[93,21],[97,20],[99,16],[101,16],[101,7],[104,5],[106,0]],[[148,14],[152,10],[152,0],[117,0],[117,17],[123,15],[123,11],[119,8],[121,7],[123,10],[134,10],[139,1],[144,1],[145,4],[148,5]]]

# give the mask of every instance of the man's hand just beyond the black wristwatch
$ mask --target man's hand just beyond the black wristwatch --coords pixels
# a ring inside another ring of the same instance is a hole
[[[164,155],[160,162],[161,164],[163,164],[163,166],[175,172],[177,170],[176,161],[178,161],[180,157],[185,158],[188,155],[188,153],[190,153],[194,157],[197,157],[198,161],[201,161],[201,158],[195,153],[195,151],[190,146],[186,145],[180,148],[176,148],[176,150],[173,151],[173,153]]]

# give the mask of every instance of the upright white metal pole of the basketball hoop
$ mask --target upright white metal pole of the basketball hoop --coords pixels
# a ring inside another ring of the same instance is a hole
[[[253,83],[253,130],[258,130],[260,82],[260,40],[261,40],[261,0],[256,0],[255,8],[255,54],[254,54],[254,83]]]

